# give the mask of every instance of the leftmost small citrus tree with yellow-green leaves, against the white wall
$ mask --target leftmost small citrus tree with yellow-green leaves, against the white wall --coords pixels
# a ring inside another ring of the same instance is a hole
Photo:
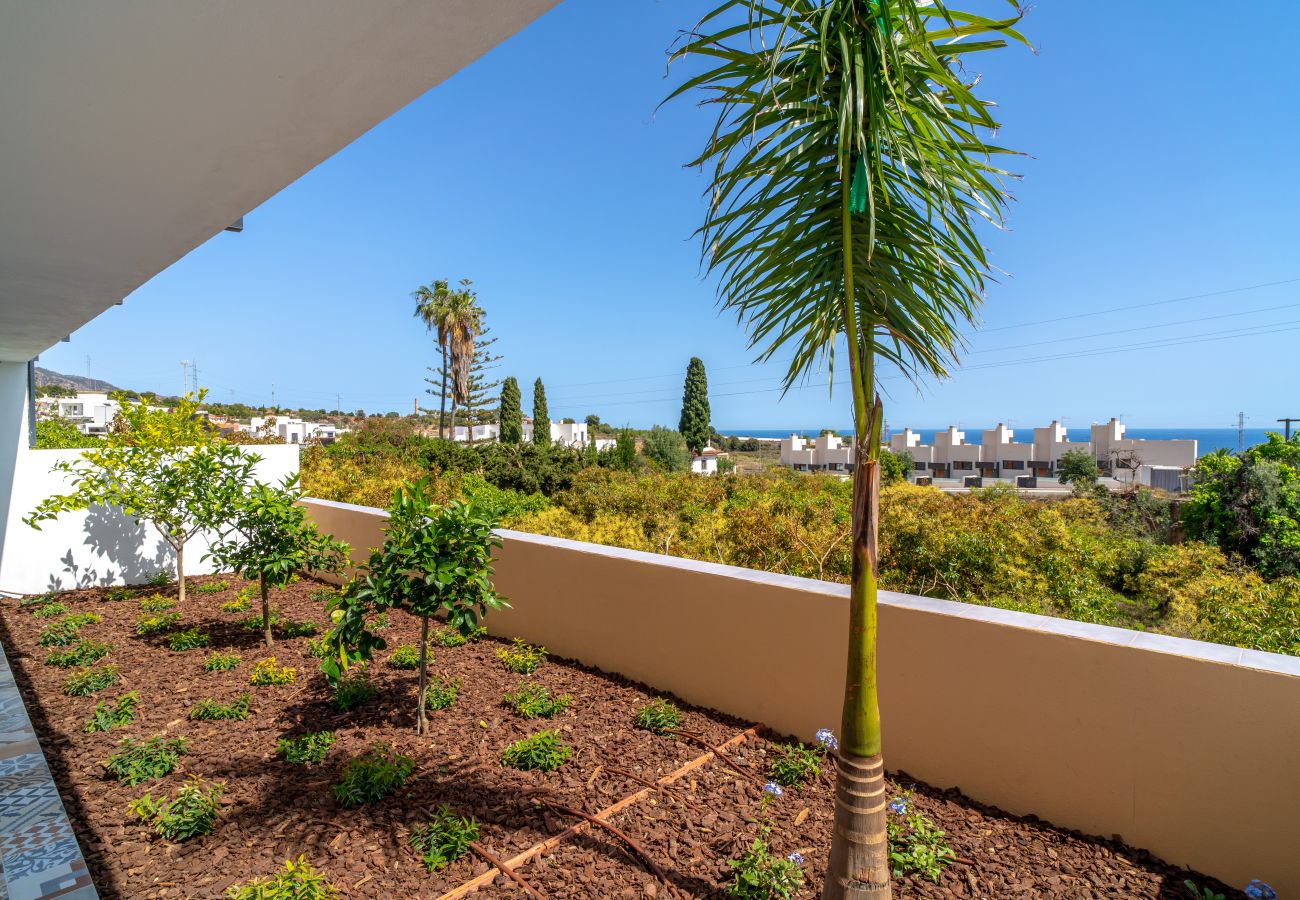
[[[203,393],[183,397],[170,410],[142,401],[121,403],[113,432],[101,449],[56,463],[72,480],[66,494],[47,497],[23,519],[39,523],[91,506],[117,507],[147,522],[176,553],[181,602],[185,602],[185,546],[200,531],[220,528],[260,457],[218,441],[196,416]]]

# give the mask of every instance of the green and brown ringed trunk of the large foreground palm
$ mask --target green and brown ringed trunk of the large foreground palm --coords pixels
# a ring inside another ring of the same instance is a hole
[[[880,753],[876,697],[876,532],[880,510],[880,425],[884,411],[875,393],[875,333],[859,333],[853,294],[853,217],[849,177],[842,164],[844,330],[853,382],[853,574],[849,588],[849,659],[835,778],[835,832],[822,900],[888,900],[889,838],[885,767]],[[870,404],[870,406],[868,406]]]

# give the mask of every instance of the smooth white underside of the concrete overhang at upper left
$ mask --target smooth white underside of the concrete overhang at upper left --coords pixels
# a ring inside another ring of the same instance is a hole
[[[36,356],[558,0],[0,8],[0,360]]]

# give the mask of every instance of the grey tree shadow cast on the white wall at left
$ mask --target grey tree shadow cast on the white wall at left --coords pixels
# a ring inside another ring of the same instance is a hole
[[[69,548],[60,559],[62,572],[49,575],[49,590],[94,588],[118,581],[144,584],[161,570],[176,570],[176,551],[172,546],[117,507],[87,509],[82,531],[86,533],[82,544],[90,549],[96,563],[79,566],[78,554]],[[79,555],[86,557],[84,553]],[[96,567],[100,563],[104,566],[103,571]]]

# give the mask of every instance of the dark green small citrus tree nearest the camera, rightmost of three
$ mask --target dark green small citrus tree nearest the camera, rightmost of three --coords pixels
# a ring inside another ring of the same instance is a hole
[[[467,637],[489,610],[508,606],[491,584],[495,516],[452,501],[438,507],[425,489],[428,479],[403,485],[389,506],[384,546],[334,602],[334,627],[325,639],[329,653],[321,665],[337,682],[355,662],[385,649],[382,637],[367,628],[374,610],[403,609],[420,618],[420,689],[416,732],[428,734],[425,695],[429,684],[429,618],[442,613],[447,624]]]

